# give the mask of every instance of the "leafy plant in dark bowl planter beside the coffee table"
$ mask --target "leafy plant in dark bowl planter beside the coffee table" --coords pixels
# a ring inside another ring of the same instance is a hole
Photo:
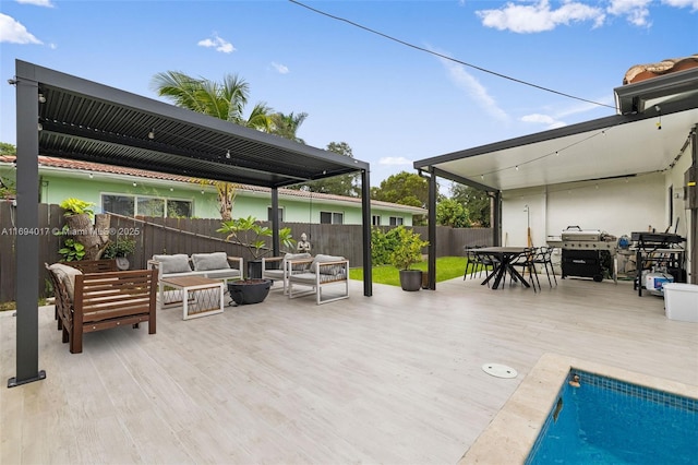
[[[216,231],[226,234],[227,241],[245,247],[253,257],[248,261],[245,278],[228,283],[232,300],[237,305],[263,301],[272,287],[272,279],[262,279],[262,257],[270,252],[265,239],[272,237],[272,229],[258,224],[255,217],[248,216],[222,222]],[[296,240],[291,237],[291,228],[279,229],[279,240],[284,247],[292,248]]]

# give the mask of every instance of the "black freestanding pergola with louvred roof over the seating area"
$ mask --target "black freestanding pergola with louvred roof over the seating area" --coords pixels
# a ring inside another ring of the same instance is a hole
[[[15,61],[17,148],[16,377],[38,369],[38,156],[46,155],[272,189],[279,253],[278,188],[359,171],[363,294],[372,295],[369,164],[92,81]]]

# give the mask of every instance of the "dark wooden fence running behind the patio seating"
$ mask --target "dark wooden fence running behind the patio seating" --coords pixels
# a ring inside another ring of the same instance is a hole
[[[0,302],[15,300],[16,288],[16,211],[10,202],[0,201]],[[58,253],[62,245],[53,233],[63,227],[63,211],[58,205],[39,204],[39,295],[51,295],[48,275],[44,263],[61,260]],[[270,226],[269,223],[264,223]],[[312,253],[341,255],[349,259],[352,267],[363,265],[363,242],[360,225],[317,225],[305,223],[282,223],[281,227],[291,228],[293,238],[308,235],[312,243]],[[204,253],[225,251],[229,255],[252,260],[245,247],[225,241],[224,235],[216,233],[220,219],[192,218],[130,218],[111,216],[110,229],[116,236],[131,236],[136,240],[135,252],[129,257],[131,269],[145,269],[147,260],[156,253]],[[389,229],[390,227],[381,227]],[[416,226],[414,230],[426,238],[426,226]],[[270,243],[270,241],[267,241]],[[492,229],[452,229],[436,228],[436,257],[464,255],[465,246],[492,245]],[[426,253],[426,250],[424,250]]]

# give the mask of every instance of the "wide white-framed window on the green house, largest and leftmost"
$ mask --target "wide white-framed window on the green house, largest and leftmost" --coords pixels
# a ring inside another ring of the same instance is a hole
[[[101,194],[101,210],[124,216],[191,217],[192,202],[154,196]]]

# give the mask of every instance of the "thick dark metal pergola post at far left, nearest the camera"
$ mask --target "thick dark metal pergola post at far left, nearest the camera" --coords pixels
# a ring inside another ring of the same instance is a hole
[[[19,68],[19,67],[17,67]],[[39,277],[39,138],[38,83],[17,69],[17,229],[16,229],[16,377],[8,388],[46,378],[38,369],[38,277]]]

